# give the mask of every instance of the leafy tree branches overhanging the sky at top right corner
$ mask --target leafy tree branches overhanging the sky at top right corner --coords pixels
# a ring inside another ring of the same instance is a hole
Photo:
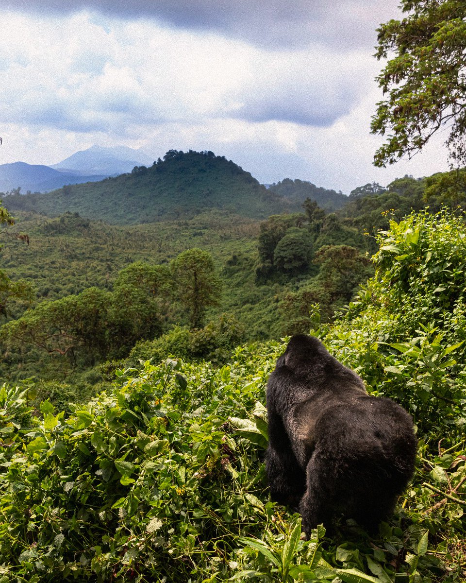
[[[394,52],[377,82],[387,99],[377,103],[373,134],[387,134],[375,166],[419,152],[447,126],[452,163],[466,162],[466,3],[464,0],[401,0],[409,13],[377,29],[377,59]]]

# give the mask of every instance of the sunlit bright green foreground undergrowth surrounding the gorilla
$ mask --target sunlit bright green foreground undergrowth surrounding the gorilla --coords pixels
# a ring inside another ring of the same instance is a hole
[[[378,243],[375,276],[314,329],[418,428],[414,481],[375,539],[348,524],[302,540],[299,517],[268,500],[264,387],[284,345],[253,343],[223,367],[119,370],[66,414],[44,402],[33,415],[31,387],[4,385],[2,581],[463,581],[464,222],[419,213]]]

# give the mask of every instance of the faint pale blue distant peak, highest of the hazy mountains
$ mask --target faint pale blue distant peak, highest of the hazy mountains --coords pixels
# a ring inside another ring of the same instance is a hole
[[[130,172],[135,166],[151,166],[154,159],[130,147],[91,146],[76,152],[50,167],[72,174],[104,174],[114,176]]]

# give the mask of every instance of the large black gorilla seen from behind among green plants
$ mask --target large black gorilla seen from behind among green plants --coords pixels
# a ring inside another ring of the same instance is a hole
[[[303,530],[353,518],[369,532],[393,512],[414,473],[408,413],[368,395],[354,371],[313,336],[292,336],[267,382],[267,480],[298,508]]]

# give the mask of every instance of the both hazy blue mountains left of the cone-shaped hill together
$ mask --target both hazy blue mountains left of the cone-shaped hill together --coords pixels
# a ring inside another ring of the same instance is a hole
[[[50,166],[15,162],[0,165],[0,191],[21,188],[25,194],[48,192],[64,185],[97,182],[130,172],[135,166],[151,165],[153,159],[129,147],[91,146]]]

